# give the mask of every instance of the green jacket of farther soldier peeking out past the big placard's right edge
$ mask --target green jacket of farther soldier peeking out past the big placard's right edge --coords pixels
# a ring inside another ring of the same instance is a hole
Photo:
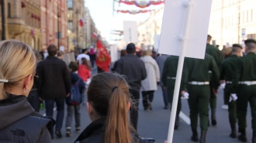
[[[221,53],[220,49],[217,49],[216,47],[207,43],[206,53],[208,53],[210,56],[213,56],[213,59],[215,60],[217,66],[220,69],[221,63],[223,61],[223,54]]]

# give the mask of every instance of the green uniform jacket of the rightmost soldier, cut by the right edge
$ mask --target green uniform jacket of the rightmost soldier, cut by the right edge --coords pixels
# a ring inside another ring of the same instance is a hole
[[[237,62],[236,83],[239,81],[256,80],[256,54],[247,53],[246,56],[239,58]]]

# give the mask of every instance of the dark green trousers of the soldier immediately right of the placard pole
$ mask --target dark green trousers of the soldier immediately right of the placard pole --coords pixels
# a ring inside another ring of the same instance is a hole
[[[191,85],[189,90],[189,109],[191,127],[197,128],[198,116],[200,117],[200,128],[203,131],[208,130],[209,117],[209,85]]]

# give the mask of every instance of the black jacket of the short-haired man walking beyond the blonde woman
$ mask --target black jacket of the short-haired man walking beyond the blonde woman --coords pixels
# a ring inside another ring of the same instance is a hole
[[[66,63],[55,56],[48,56],[38,64],[37,90],[43,99],[65,98],[71,90],[71,76]]]

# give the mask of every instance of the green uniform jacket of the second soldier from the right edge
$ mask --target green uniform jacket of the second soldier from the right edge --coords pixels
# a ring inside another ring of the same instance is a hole
[[[226,80],[232,82],[232,87],[230,87],[230,93],[235,94],[237,88],[236,73],[237,73],[237,55],[231,55],[226,60],[223,61],[220,67],[220,80]]]

